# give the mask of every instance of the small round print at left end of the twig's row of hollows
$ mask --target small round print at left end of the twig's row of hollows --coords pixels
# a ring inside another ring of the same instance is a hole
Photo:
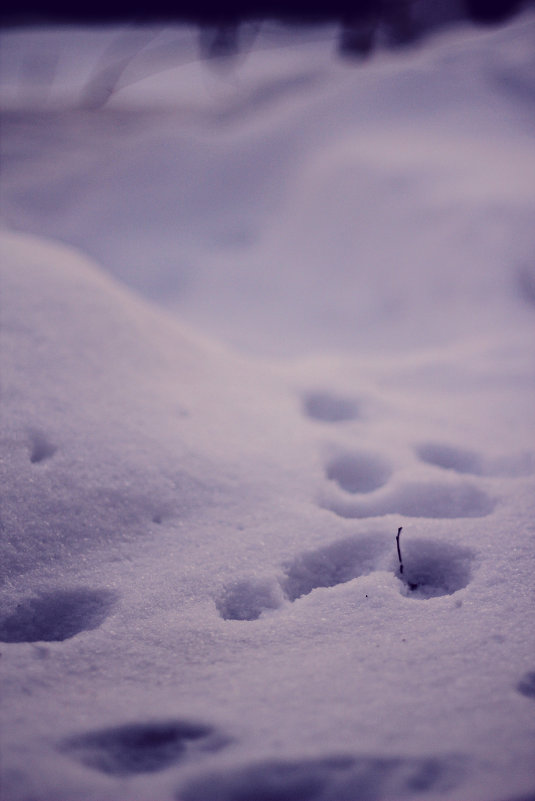
[[[262,612],[278,609],[284,597],[275,579],[241,579],[227,585],[216,598],[224,620],[257,620]]]

